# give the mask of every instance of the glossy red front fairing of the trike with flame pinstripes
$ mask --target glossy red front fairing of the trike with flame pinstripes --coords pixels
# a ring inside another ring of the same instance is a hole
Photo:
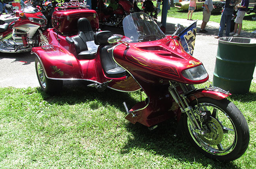
[[[115,48],[114,58],[136,80],[147,75],[187,84],[200,84],[209,79],[207,76],[200,81],[191,81],[181,75],[183,70],[194,67],[189,61],[198,62],[195,66],[202,63],[186,53],[178,40],[169,36],[151,42],[130,43],[130,48],[119,45]]]

